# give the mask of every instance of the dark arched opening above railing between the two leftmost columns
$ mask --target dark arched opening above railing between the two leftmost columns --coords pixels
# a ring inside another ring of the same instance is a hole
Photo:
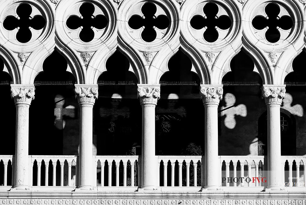
[[[67,66],[64,56],[55,50],[44,61],[43,72],[36,76],[35,81],[74,83],[73,75],[66,72]],[[66,85],[35,86],[35,99],[30,106],[29,154],[77,154],[78,106],[73,88]]]

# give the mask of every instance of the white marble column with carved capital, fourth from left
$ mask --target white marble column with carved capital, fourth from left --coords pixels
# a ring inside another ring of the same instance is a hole
[[[205,108],[204,190],[217,190],[221,180],[218,159],[218,105],[222,100],[223,85],[201,85],[200,98]]]

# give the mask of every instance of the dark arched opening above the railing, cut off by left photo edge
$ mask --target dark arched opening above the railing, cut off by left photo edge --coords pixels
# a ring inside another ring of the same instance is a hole
[[[4,63],[0,58],[0,81],[12,81],[11,76],[3,72]],[[11,99],[11,91],[9,85],[0,85],[2,88],[2,97],[0,101],[1,115],[0,118],[0,129],[1,134],[1,155],[13,155],[15,154],[15,130],[16,130],[16,108],[13,99]]]

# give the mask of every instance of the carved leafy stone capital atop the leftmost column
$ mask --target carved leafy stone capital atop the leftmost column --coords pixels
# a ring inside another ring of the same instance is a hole
[[[34,100],[35,87],[34,85],[12,84],[11,97],[14,99],[15,105],[27,104],[30,105]]]

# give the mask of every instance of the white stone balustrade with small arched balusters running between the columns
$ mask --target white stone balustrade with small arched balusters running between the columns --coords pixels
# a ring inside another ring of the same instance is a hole
[[[280,166],[285,187],[306,187],[305,161],[306,156],[282,156]],[[77,162],[77,156],[30,155],[29,185],[75,187]],[[165,188],[204,186],[203,163],[204,156],[156,156],[157,185]],[[216,163],[220,163],[221,176],[216,180],[224,188],[267,186],[267,157],[219,156]],[[141,186],[139,156],[94,156],[93,167],[93,185],[98,187]],[[0,156],[0,185],[13,186],[13,179],[14,156]]]

